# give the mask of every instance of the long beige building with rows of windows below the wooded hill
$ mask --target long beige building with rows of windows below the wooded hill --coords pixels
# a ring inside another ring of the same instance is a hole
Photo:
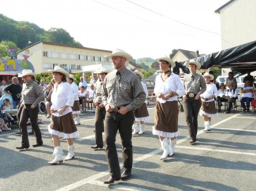
[[[30,54],[28,58],[34,66],[36,73],[48,73],[59,65],[69,73],[82,71],[82,66],[91,64],[110,64],[111,59],[104,56],[112,51],[86,48],[73,45],[61,45],[58,43],[37,42],[27,48]],[[19,51],[18,59],[23,59],[22,54],[25,49]]]

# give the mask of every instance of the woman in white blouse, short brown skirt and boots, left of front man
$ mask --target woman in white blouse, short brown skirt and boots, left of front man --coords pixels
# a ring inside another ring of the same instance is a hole
[[[51,101],[51,123],[48,125],[48,131],[52,134],[54,140],[55,158],[49,164],[62,163],[63,151],[59,136],[67,139],[68,154],[64,160],[74,159],[74,144],[73,138],[79,135],[74,124],[72,116],[72,108],[74,105],[74,96],[72,87],[67,83],[69,74],[60,66],[55,66],[54,70],[48,70],[54,76],[54,91],[52,93]]]

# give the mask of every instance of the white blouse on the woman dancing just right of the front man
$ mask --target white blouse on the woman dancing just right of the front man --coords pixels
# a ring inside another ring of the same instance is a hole
[[[170,92],[176,92],[179,97],[185,94],[184,85],[182,84],[182,81],[178,75],[172,72],[168,79],[165,81],[162,81],[161,75],[162,74],[159,74],[155,78],[155,94],[162,93],[162,95],[165,95]],[[160,103],[165,103],[166,101],[177,101],[178,97],[172,96],[168,100],[163,100],[162,98],[157,97],[156,100]]]

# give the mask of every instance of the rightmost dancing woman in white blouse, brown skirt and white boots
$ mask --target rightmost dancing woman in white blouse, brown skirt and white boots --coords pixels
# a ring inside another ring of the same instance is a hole
[[[211,83],[210,80],[214,79],[214,76],[205,72],[203,75],[206,82],[206,91],[203,92],[200,97],[202,101],[201,110],[199,114],[202,116],[204,121],[203,131],[209,131],[211,129],[211,118],[218,116],[215,107],[214,97],[218,95],[218,90],[214,83]]]

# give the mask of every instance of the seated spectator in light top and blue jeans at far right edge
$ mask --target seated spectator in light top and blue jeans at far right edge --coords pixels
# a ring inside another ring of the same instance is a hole
[[[250,82],[249,80],[245,82],[245,87],[243,88],[243,97],[241,99],[241,106],[243,108],[243,111],[250,111],[250,102],[253,98],[253,87],[250,86]],[[245,104],[244,102],[246,102],[246,108],[245,108]]]

